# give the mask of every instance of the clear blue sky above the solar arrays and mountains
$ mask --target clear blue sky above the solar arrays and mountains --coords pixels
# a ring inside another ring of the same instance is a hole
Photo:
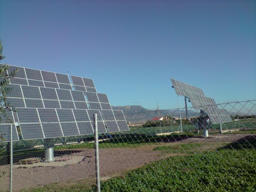
[[[256,99],[255,10],[254,0],[0,0],[2,62],[93,78],[113,106],[177,108],[170,78],[217,103]]]

